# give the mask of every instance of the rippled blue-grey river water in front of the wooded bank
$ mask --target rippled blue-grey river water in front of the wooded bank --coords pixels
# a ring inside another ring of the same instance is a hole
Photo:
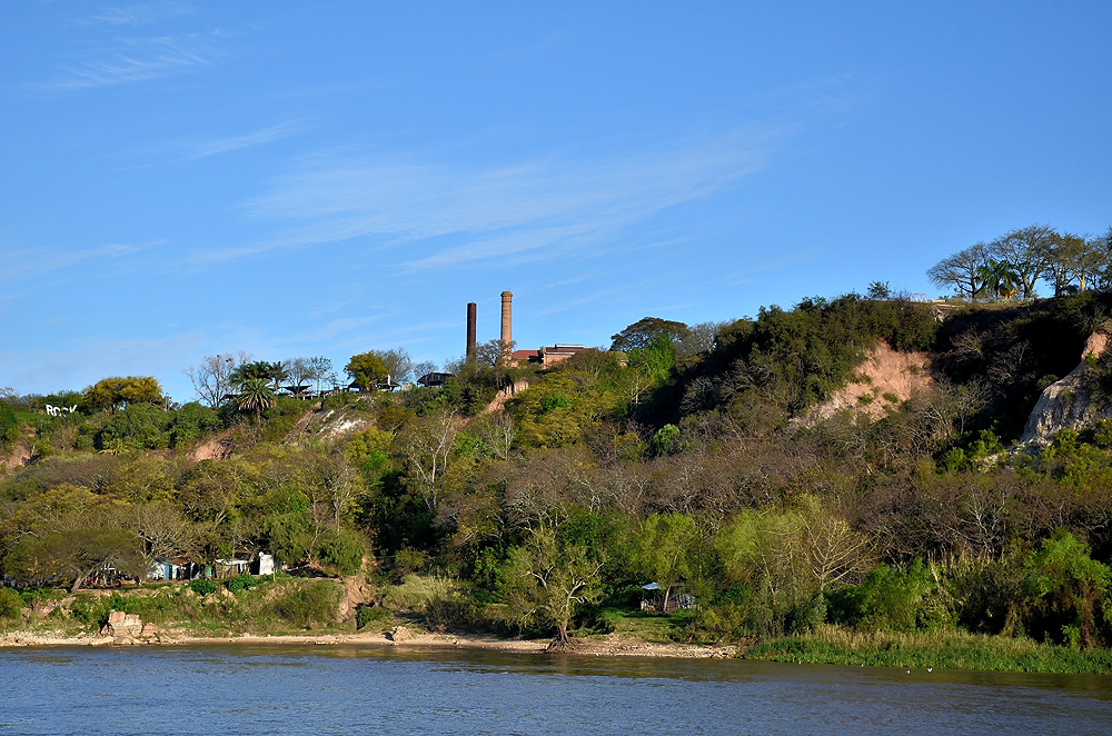
[[[371,646],[0,650],[0,734],[1112,734],[1112,677]]]

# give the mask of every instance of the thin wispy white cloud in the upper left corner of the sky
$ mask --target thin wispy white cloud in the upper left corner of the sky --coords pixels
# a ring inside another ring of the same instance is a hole
[[[61,64],[54,78],[31,87],[68,91],[132,84],[187,73],[221,57],[216,47],[197,34],[120,38],[97,53]]]

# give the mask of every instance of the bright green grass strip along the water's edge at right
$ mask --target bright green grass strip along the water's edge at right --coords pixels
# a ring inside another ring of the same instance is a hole
[[[1026,638],[964,631],[862,633],[823,626],[749,649],[745,657],[815,665],[867,665],[1022,673],[1112,673],[1112,649],[1079,652]]]

